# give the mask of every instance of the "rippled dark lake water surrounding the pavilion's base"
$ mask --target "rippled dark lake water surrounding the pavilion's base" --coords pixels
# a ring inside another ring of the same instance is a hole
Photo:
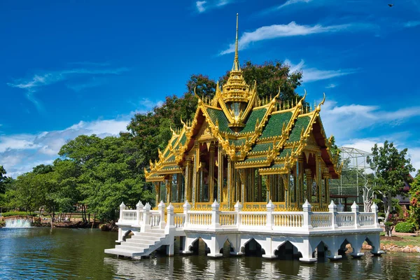
[[[388,253],[307,265],[258,257],[212,259],[154,255],[142,260],[104,254],[117,234],[64,228],[0,229],[0,279],[420,279],[420,254]]]

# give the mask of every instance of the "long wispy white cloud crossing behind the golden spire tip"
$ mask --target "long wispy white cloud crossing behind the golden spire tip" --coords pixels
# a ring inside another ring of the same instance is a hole
[[[290,22],[288,25],[269,25],[255,29],[252,32],[244,32],[241,38],[239,38],[239,49],[244,50],[248,48],[251,43],[258,41],[290,37],[290,36],[307,36],[311,34],[331,33],[338,31],[349,31],[355,29],[365,29],[372,27],[371,25],[365,24],[346,24],[346,25],[297,25],[296,22]],[[220,55],[225,55],[231,52],[235,52],[235,43],[229,45],[229,48],[223,50]]]

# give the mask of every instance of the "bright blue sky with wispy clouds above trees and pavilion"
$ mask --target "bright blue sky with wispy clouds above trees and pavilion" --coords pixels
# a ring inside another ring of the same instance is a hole
[[[239,59],[303,71],[340,146],[388,139],[420,168],[420,1],[0,1],[0,165],[48,164],[79,134],[116,135],[135,112]]]

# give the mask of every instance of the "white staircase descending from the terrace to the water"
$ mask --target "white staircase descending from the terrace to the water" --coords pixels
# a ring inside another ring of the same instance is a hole
[[[150,255],[162,245],[168,235],[165,235],[165,230],[152,229],[147,232],[140,232],[137,235],[132,235],[131,238],[122,241],[116,248],[106,249],[105,253],[114,255],[124,255],[125,257],[137,257]]]

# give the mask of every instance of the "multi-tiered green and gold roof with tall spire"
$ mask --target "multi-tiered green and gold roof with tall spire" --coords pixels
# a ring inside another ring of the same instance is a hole
[[[159,160],[145,169],[147,181],[162,181],[168,174],[182,172],[183,162],[196,141],[218,142],[223,153],[235,162],[236,169],[258,168],[262,174],[283,174],[293,169],[303,154],[307,162],[311,151],[321,150],[321,158],[332,178],[339,169],[337,155],[332,155],[331,140],[325,136],[319,113],[322,102],[309,110],[300,100],[280,102],[274,98],[259,99],[256,83],[250,87],[244,80],[238,59],[238,37],[235,60],[228,82],[216,87],[213,99],[200,98],[193,120],[183,123],[180,130],[172,130]],[[181,120],[182,121],[182,120]],[[305,153],[302,153],[305,150]]]

